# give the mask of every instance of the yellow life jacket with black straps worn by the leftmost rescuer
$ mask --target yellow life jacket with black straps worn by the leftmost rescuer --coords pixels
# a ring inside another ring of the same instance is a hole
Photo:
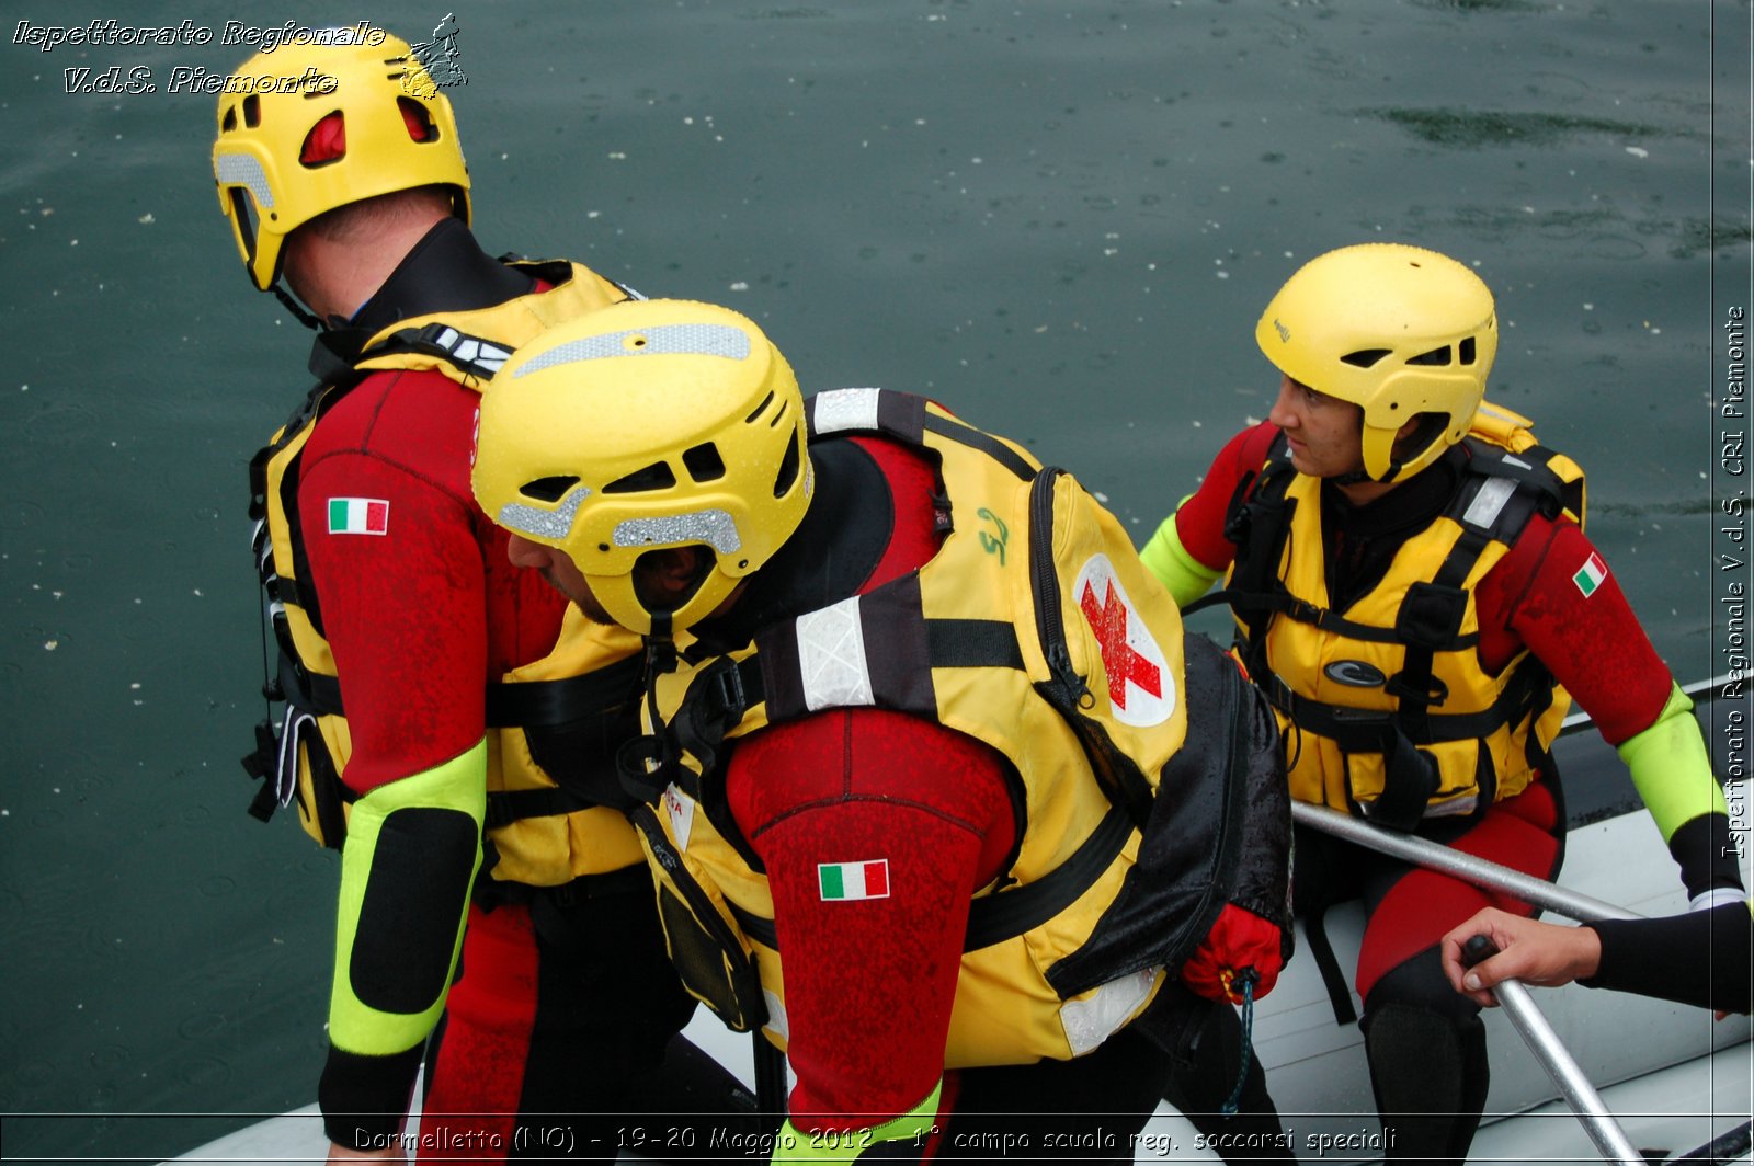
[[[246,770],[263,779],[251,814],[267,821],[277,805],[296,800],[302,826],[328,847],[339,849],[347,831],[354,793],[342,782],[342,771],[353,747],[321,605],[305,573],[296,503],[300,454],[323,414],[372,372],[431,370],[481,391],[519,344],[630,295],[575,263],[512,267],[551,288],[488,309],[402,319],[379,331],[358,354],[333,359],[323,384],[251,459],[256,566],[279,654],[265,693],[286,705],[279,724],[256,726],[256,752],[244,759]],[[568,624],[574,615],[568,612]],[[638,638],[579,628],[563,633],[549,656],[488,684],[493,731],[488,733],[486,843],[493,878],[558,885],[640,861],[623,814],[561,789],[531,757],[524,733],[579,721],[621,721],[633,733],[638,691]],[[605,766],[612,773],[609,759]]]

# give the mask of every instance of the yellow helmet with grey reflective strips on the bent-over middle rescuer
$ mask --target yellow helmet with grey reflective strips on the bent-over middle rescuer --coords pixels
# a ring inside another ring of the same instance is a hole
[[[665,635],[710,614],[798,530],[810,501],[803,398],[744,316],[631,300],[542,333],[493,377],[475,435],[475,500],[565,551],[624,628]],[[658,547],[714,563],[672,610],[633,565]]]

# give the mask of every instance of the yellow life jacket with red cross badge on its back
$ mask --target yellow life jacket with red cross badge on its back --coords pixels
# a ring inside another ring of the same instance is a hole
[[[724,750],[823,708],[902,710],[996,749],[1023,791],[1016,861],[970,905],[945,1066],[1084,1054],[1152,999],[1237,884],[1228,779],[1177,780],[1172,766],[1187,733],[1175,603],[1121,524],[1017,445],[902,393],[840,389],[807,409],[819,451],[861,433],[928,451],[954,530],[914,573],[781,619],[728,656],[684,647],[654,677],[656,810],[638,807],[635,822],[672,957],[721,1019],[765,1022],[786,1043],[774,901],[724,810]],[[814,538],[809,523],[795,537]],[[1177,798],[1159,798],[1159,784]],[[1280,773],[1266,784],[1282,789]],[[1151,838],[1170,801],[1186,845],[1172,863],[1144,863],[1140,828]],[[1173,863],[1186,868],[1163,875]]]

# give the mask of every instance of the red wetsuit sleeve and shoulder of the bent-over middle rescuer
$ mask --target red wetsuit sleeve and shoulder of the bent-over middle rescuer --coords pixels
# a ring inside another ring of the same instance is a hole
[[[895,496],[895,533],[863,594],[930,559],[938,535],[931,468],[854,440]],[[912,1110],[944,1073],[968,899],[1012,849],[1003,759],[919,717],[835,708],[740,742],[726,793],[774,892],[793,1120],[845,1129]],[[889,859],[889,898],[858,912],[823,901],[817,863],[875,857]]]

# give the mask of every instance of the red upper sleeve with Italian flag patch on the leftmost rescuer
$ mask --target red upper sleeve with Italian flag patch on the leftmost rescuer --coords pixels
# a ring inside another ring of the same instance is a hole
[[[510,565],[470,493],[479,403],[437,372],[379,372],[305,445],[298,512],[361,794],[474,747],[486,684],[560,635],[565,598]],[[386,501],[384,533],[326,533],[332,498]]]

